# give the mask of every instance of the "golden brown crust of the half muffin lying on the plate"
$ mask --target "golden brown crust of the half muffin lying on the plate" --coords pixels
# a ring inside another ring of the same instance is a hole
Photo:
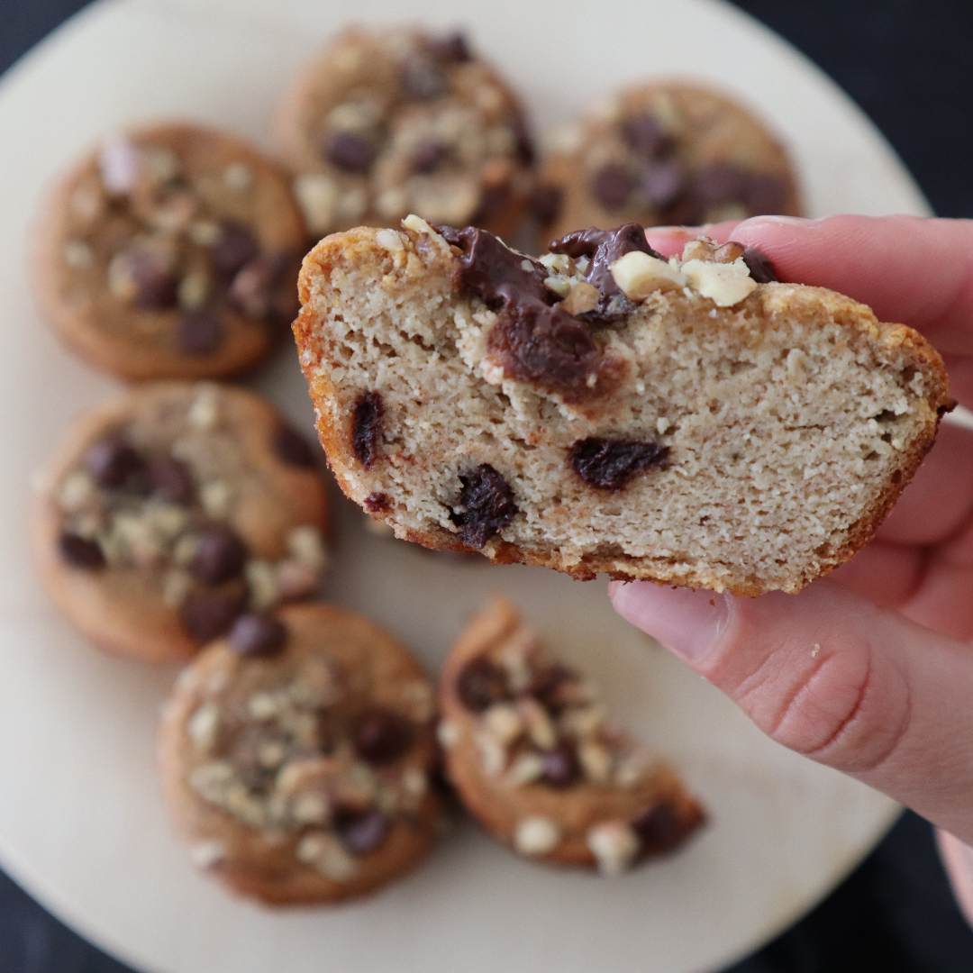
[[[658,806],[666,807],[674,817],[671,847],[681,844],[703,823],[704,813],[678,775],[665,764],[656,763],[630,787],[587,782],[566,790],[542,783],[512,787],[502,777],[484,773],[474,739],[476,714],[460,702],[456,683],[463,667],[518,631],[523,631],[518,611],[506,599],[492,597],[486,609],[460,633],[440,676],[443,720],[456,740],[445,749],[447,774],[466,810],[508,847],[515,847],[517,826],[525,817],[541,816],[555,821],[562,829],[559,844],[538,856],[538,860],[554,865],[594,868],[597,862],[587,842],[593,826],[607,820],[628,821]]]

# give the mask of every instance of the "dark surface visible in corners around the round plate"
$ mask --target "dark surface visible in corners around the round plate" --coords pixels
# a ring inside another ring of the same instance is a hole
[[[83,6],[84,0],[0,0],[0,72]],[[939,216],[973,216],[973,2],[740,0],[738,6],[847,90]],[[0,141],[0,151],[10,149]],[[0,873],[0,973],[126,970]],[[871,970],[973,971],[973,930],[950,894],[931,829],[911,812],[810,916],[725,973]]]

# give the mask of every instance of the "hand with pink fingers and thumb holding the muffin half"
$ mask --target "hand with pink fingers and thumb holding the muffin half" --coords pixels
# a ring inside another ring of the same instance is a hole
[[[759,217],[703,233],[841,291],[940,351],[973,406],[973,222]],[[650,231],[672,254],[696,231]],[[615,609],[772,738],[973,845],[973,432],[944,424],[875,538],[799,595],[613,582]]]

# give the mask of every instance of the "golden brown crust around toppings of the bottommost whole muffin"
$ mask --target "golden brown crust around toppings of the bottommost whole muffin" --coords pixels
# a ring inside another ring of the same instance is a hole
[[[277,617],[289,632],[281,655],[241,660],[221,639],[207,646],[180,677],[159,733],[163,796],[177,830],[191,846],[219,843],[222,857],[207,863],[208,870],[237,894],[271,906],[340,902],[375,891],[425,857],[440,811],[435,792],[426,790],[413,813],[395,817],[380,847],[358,856],[357,874],[332,881],[297,859],[302,831],[262,832],[198,795],[188,778],[201,758],[187,734],[187,724],[200,703],[219,696],[214,686],[232,693],[234,680],[238,684],[247,678],[272,680],[273,672],[293,671],[305,660],[337,663],[349,682],[364,681],[371,687],[371,699],[388,705],[396,704],[403,687],[428,688],[428,683],[409,653],[367,619],[325,604],[287,606]],[[429,725],[403,759],[425,771],[431,768],[434,742]]]

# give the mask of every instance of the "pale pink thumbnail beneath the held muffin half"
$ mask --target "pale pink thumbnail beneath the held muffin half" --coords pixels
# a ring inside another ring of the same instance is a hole
[[[624,619],[657,638],[690,666],[703,661],[730,620],[732,595],[690,588],[663,588],[648,581],[609,586]]]

